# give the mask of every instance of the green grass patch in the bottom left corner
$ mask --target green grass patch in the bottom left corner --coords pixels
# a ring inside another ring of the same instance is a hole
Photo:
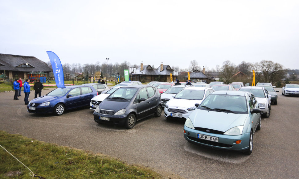
[[[0,145],[44,178],[161,178],[152,170],[69,147],[0,131]],[[30,171],[0,147],[0,178],[31,178]],[[20,176],[6,173],[21,171]]]

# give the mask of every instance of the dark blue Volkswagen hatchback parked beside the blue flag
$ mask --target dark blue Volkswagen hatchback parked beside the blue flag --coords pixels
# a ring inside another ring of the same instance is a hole
[[[91,99],[96,95],[98,93],[92,86],[57,88],[45,96],[31,100],[27,105],[27,112],[62,115],[65,110],[89,106]]]

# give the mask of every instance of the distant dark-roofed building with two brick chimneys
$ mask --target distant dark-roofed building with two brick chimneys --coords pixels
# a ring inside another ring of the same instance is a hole
[[[140,64],[140,67],[136,69],[135,74],[129,74],[131,81],[162,81],[170,82],[170,73],[172,74],[173,81],[177,78],[174,76],[174,70],[169,65],[160,65],[159,68],[154,69],[150,65]]]

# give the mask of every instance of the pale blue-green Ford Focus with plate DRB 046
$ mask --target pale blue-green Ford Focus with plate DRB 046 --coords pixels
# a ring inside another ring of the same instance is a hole
[[[242,151],[253,149],[253,134],[261,128],[259,104],[250,92],[215,91],[189,115],[184,137],[211,148]]]

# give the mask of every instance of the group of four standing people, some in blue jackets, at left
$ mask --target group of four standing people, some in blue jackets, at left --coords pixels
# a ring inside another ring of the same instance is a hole
[[[22,78],[18,78],[18,79],[14,80],[14,100],[18,100],[19,99],[18,97],[22,96],[21,91],[22,91],[22,87],[23,87],[24,94],[25,94],[25,97],[24,97],[25,105],[29,104],[28,99],[29,99],[29,94],[31,91],[29,82],[30,82],[30,80],[26,79],[25,83],[23,85]],[[37,95],[39,95],[39,97],[41,97],[42,89],[43,89],[43,83],[41,83],[38,78],[38,79],[36,79],[36,82],[34,84],[34,90],[35,90],[34,98],[37,98]]]

